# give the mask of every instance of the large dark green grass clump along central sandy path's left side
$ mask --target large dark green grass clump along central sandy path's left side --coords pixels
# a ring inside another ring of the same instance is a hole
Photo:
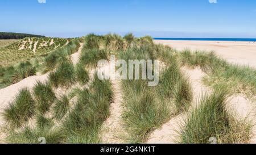
[[[109,116],[112,96],[111,83],[97,77],[89,90],[79,92],[78,102],[63,124],[67,143],[100,143],[98,134]]]

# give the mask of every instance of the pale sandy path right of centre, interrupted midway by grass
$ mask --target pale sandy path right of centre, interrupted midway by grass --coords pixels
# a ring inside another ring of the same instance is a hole
[[[193,101],[192,107],[196,107],[197,100],[200,99],[201,95],[207,93],[209,89],[201,83],[201,78],[205,74],[199,69],[187,69],[182,68],[183,72],[189,76],[192,91],[193,91]],[[166,124],[156,131],[152,132],[147,143],[148,144],[175,144],[179,140],[179,132],[181,131],[181,124],[184,123],[187,118],[187,114],[180,114],[175,118],[172,118]]]

